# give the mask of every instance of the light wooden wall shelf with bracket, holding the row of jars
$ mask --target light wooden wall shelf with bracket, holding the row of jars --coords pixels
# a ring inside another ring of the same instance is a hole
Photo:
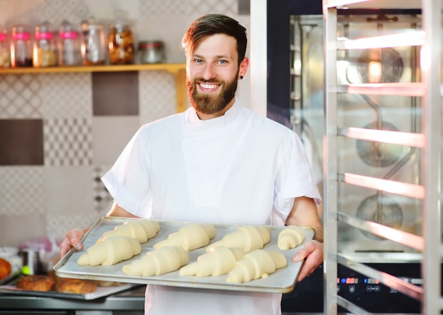
[[[184,112],[188,107],[188,99],[186,95],[186,64],[124,64],[103,66],[53,66],[45,68],[3,68],[0,69],[0,75],[121,71],[168,71],[173,74],[176,81],[176,112]]]

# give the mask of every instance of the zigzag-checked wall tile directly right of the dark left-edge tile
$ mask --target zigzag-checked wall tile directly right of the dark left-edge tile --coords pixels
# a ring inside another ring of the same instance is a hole
[[[92,163],[91,118],[52,118],[43,125],[45,165],[86,166]]]

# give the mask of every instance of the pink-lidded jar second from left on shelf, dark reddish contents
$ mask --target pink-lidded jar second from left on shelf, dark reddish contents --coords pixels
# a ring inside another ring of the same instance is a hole
[[[11,30],[11,66],[33,66],[33,42],[27,25],[15,25]]]

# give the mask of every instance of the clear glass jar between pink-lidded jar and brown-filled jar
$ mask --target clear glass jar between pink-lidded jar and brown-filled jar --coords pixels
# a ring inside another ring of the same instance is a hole
[[[105,28],[93,17],[81,23],[81,57],[85,66],[106,61]]]

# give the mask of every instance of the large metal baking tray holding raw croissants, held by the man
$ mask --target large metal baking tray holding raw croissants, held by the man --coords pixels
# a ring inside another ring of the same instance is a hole
[[[103,217],[96,221],[88,232],[84,235],[84,249],[77,251],[71,249],[55,266],[54,271],[59,277],[66,278],[81,278],[92,280],[108,280],[117,281],[122,283],[139,283],[139,284],[154,284],[154,285],[171,285],[176,287],[197,287],[206,289],[219,289],[219,290],[240,290],[240,291],[254,291],[254,292],[281,292],[287,293],[294,290],[297,275],[301,269],[303,261],[294,263],[291,261],[292,256],[303,246],[303,244],[297,246],[295,249],[280,250],[277,247],[277,237],[284,226],[270,226],[271,239],[263,249],[277,250],[287,258],[287,267],[281,268],[275,273],[272,273],[268,278],[260,278],[252,280],[248,283],[226,283],[227,275],[197,277],[197,276],[180,276],[178,271],[166,273],[163,275],[155,275],[151,277],[131,276],[125,275],[122,272],[122,266],[131,263],[133,260],[137,260],[141,255],[145,255],[148,251],[153,250],[153,245],[163,239],[166,239],[169,234],[176,232],[179,227],[186,225],[190,222],[183,221],[165,221],[156,220],[159,222],[160,230],[156,234],[156,237],[149,239],[148,242],[142,244],[142,253],[134,256],[127,261],[121,261],[113,266],[79,266],[76,261],[84,254],[85,249],[96,243],[103,232],[113,230],[115,226],[122,225],[129,220],[139,220],[133,218],[115,218],[115,217]],[[214,224],[217,230],[217,235],[210,243],[217,242],[222,239],[224,235],[234,232],[241,225],[225,225]],[[305,240],[307,242],[313,239],[315,230],[309,227],[302,227],[305,230]],[[209,244],[210,244],[209,243]],[[195,249],[189,252],[190,263],[197,260],[197,257],[205,254],[205,247]]]

